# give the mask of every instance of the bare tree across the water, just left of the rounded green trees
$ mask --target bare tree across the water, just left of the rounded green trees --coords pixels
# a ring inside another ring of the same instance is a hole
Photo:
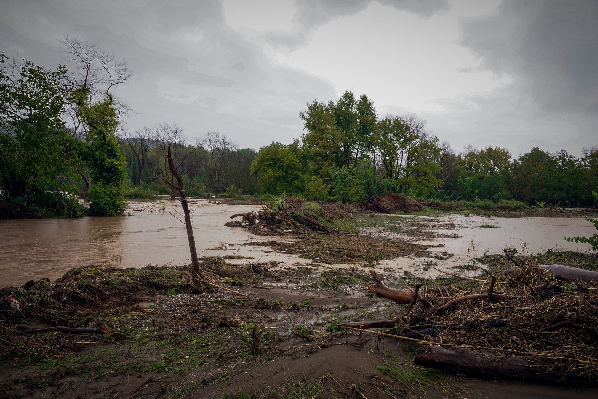
[[[199,140],[202,147],[208,151],[209,163],[206,167],[208,174],[208,183],[218,198],[218,194],[226,186],[228,169],[231,166],[233,152],[239,149],[239,146],[227,139],[225,135],[217,132],[208,132]]]

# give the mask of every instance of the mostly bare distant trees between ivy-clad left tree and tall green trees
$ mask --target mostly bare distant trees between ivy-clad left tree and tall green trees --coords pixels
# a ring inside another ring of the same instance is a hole
[[[257,153],[239,148],[236,142],[218,132],[208,132],[190,140],[178,124],[156,123],[135,133],[122,130],[121,149],[127,162],[130,182],[175,198],[172,173],[167,164],[168,148],[181,173],[187,194],[192,196],[240,196],[257,194],[257,177],[251,163]]]

